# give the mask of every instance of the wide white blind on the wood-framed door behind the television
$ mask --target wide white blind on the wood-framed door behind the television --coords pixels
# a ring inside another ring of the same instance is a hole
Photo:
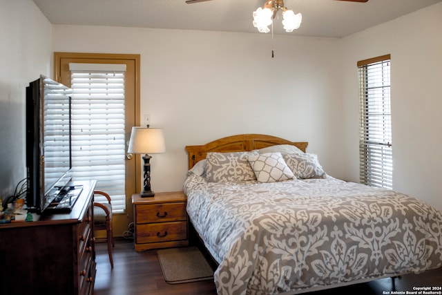
[[[115,213],[126,209],[125,66],[69,64],[73,175],[76,180],[97,180],[95,189],[111,196]]]

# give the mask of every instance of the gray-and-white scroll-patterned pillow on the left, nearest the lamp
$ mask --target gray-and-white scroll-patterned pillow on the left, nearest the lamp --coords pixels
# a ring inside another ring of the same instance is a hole
[[[257,152],[207,153],[206,180],[208,182],[244,182],[256,180],[251,169],[249,155]]]

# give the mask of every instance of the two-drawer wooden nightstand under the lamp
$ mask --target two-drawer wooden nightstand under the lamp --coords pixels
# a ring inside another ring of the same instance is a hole
[[[186,202],[182,191],[155,193],[153,198],[132,195],[135,251],[189,245]]]

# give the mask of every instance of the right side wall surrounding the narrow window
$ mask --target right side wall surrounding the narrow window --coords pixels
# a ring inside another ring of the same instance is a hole
[[[442,3],[345,37],[345,178],[358,181],[356,61],[391,54],[394,190],[442,209]]]

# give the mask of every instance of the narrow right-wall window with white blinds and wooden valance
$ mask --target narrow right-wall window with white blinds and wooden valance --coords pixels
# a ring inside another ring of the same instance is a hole
[[[390,55],[358,62],[360,81],[360,180],[392,189]]]

